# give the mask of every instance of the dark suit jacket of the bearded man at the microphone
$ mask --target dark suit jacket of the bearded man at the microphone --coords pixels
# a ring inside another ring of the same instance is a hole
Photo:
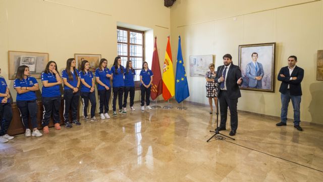
[[[216,81],[217,83],[219,83],[218,80],[222,76],[222,72],[224,71],[224,68],[225,68],[224,65],[218,67],[217,76],[216,76],[216,78],[214,78],[214,81]],[[225,82],[227,85],[227,91],[229,93],[230,99],[238,99],[239,97],[241,97],[240,88],[239,88],[239,85],[237,84],[238,79],[241,77],[242,77],[241,70],[240,70],[239,66],[236,66],[233,63],[231,63],[229,71],[228,71],[228,75],[225,78]],[[241,82],[241,84],[242,84],[242,82]],[[220,83],[219,83],[219,89],[218,89],[219,95],[221,95],[221,93],[222,93],[222,90],[220,89]]]

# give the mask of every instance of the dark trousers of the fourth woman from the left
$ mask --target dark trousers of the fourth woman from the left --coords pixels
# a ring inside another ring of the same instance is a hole
[[[72,111],[72,121],[77,120],[77,108],[79,107],[80,92],[73,93],[72,89],[64,90],[64,121],[70,122],[69,115]]]

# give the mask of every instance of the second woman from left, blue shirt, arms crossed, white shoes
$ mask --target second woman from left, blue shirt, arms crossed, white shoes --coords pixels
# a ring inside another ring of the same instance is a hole
[[[17,69],[14,88],[17,91],[16,103],[19,109],[22,124],[25,128],[25,136],[42,136],[37,129],[37,102],[35,91],[39,90],[36,78],[29,76],[29,67],[26,65],[19,66]],[[33,132],[29,129],[29,116]]]

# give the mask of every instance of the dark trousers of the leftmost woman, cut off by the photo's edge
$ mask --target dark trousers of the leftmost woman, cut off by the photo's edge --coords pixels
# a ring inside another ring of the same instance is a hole
[[[7,134],[10,122],[12,120],[11,103],[0,104],[1,129],[0,136]]]

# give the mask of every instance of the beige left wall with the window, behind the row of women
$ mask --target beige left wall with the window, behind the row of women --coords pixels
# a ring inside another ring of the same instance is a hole
[[[163,1],[0,0],[0,66],[13,98],[16,91],[13,80],[8,80],[9,50],[49,53],[49,60],[56,61],[60,71],[75,53],[101,54],[111,67],[117,56],[117,22],[148,28],[150,41],[156,35],[158,48],[165,53],[170,9]],[[151,59],[152,51],[145,53]]]

